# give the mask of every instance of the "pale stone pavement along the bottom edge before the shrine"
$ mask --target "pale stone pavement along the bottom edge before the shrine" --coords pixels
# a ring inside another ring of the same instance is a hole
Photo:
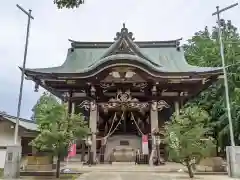
[[[186,173],[154,173],[154,172],[90,172],[77,180],[189,180]],[[199,180],[228,180],[227,176],[196,175]]]

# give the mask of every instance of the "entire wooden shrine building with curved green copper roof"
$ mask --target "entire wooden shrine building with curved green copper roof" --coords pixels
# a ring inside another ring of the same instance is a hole
[[[67,101],[69,113],[84,115],[100,162],[114,153],[115,161],[130,161],[123,154],[143,151],[143,136],[150,154],[152,131],[161,132],[174,112],[222,75],[221,68],[188,64],[180,39],[135,41],[125,24],[112,42],[70,42],[61,66],[26,69],[25,75],[36,89]],[[85,153],[84,142],[77,147]],[[159,151],[166,155],[163,143]]]

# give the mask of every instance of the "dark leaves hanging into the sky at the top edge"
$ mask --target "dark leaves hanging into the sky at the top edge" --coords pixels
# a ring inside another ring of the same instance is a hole
[[[57,5],[59,9],[62,8],[78,8],[81,4],[84,4],[84,0],[54,0],[54,4]]]

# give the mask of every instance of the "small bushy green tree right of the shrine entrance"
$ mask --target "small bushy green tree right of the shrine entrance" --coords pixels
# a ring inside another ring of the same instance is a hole
[[[206,127],[208,121],[208,113],[194,106],[182,109],[179,116],[174,114],[172,121],[165,124],[169,158],[186,166],[190,178],[194,177],[195,163],[209,156],[214,148],[207,135],[210,130]]]

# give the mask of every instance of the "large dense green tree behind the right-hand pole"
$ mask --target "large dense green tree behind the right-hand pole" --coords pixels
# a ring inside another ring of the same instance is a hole
[[[221,21],[222,39],[224,42],[225,62],[229,66],[228,84],[231,100],[231,113],[233,119],[235,140],[240,135],[240,37],[237,28],[231,21]],[[221,67],[220,47],[218,31],[216,27],[195,33],[184,45],[186,58],[190,64],[205,67]],[[229,145],[228,116],[225,105],[225,91],[223,80],[219,80],[209,89],[203,91],[191,105],[197,105],[206,110],[211,117],[214,126],[212,134],[221,147]]]

